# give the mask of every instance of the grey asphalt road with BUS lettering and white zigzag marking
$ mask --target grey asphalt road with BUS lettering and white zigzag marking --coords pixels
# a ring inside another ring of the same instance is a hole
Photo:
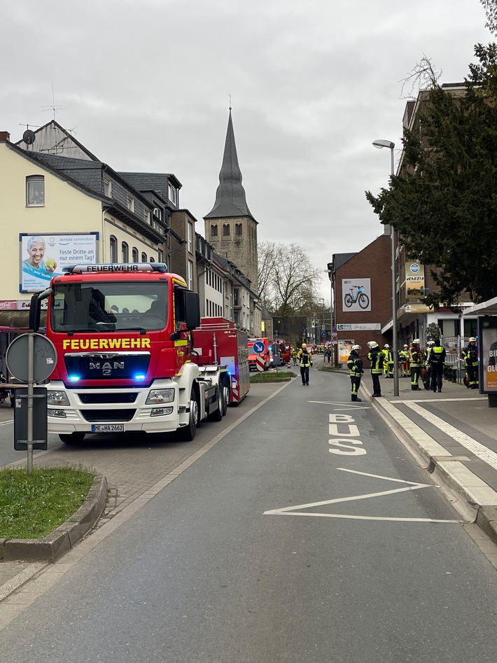
[[[1,650],[10,663],[494,662],[497,574],[460,520],[350,403],[348,380],[313,370],[89,549]]]

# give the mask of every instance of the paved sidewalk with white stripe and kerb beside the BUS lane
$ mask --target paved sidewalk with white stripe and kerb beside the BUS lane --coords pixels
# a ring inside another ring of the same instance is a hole
[[[409,377],[381,378],[381,398],[372,398],[369,372],[361,390],[388,426],[416,456],[456,509],[497,543],[497,408],[463,384],[444,382],[442,393],[412,391]],[[420,382],[421,384],[421,382]]]

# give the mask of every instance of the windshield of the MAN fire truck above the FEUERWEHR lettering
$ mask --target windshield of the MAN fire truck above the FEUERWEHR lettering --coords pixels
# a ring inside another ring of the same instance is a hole
[[[157,281],[54,284],[55,332],[153,331],[167,322],[167,289]]]

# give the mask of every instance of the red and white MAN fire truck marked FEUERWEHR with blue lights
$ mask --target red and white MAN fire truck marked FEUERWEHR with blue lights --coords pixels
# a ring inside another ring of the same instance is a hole
[[[182,277],[163,263],[73,265],[64,272],[34,307],[39,319],[48,296],[46,335],[57,349],[50,433],[68,444],[128,431],[177,431],[193,440],[202,419],[222,419],[230,375],[222,365],[207,370],[193,361],[199,298]]]

